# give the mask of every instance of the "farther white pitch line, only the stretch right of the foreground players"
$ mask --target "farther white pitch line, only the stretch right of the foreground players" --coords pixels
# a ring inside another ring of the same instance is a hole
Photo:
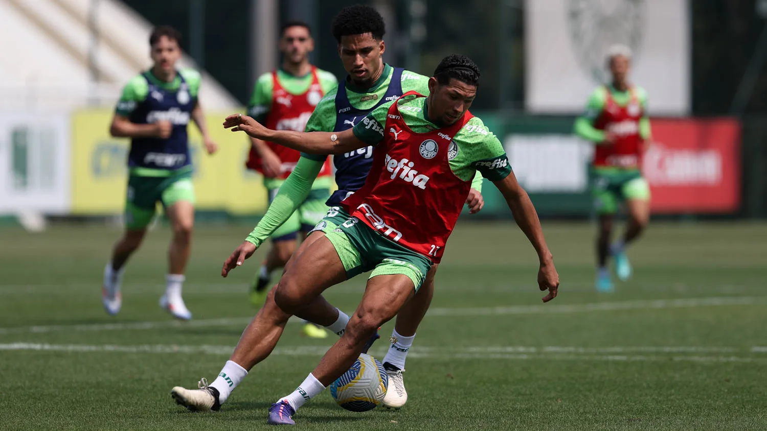
[[[621,302],[590,302],[585,304],[514,305],[511,307],[432,308],[430,316],[482,316],[568,314],[581,312],[613,312],[634,309],[679,309],[722,305],[761,305],[767,296],[717,296],[709,298],[652,299]]]

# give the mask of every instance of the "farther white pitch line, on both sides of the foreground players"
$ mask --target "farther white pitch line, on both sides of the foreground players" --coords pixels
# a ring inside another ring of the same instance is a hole
[[[545,304],[514,305],[509,307],[446,308],[437,307],[429,310],[428,315],[440,316],[488,316],[488,315],[527,315],[527,314],[568,314],[579,312],[611,312],[630,309],[676,309],[693,307],[711,307],[723,305],[762,305],[767,303],[767,296],[720,296],[709,298],[656,299],[623,302],[588,302],[584,304]],[[0,328],[0,335],[32,333],[40,334],[57,331],[129,331],[150,330],[156,328],[205,328],[212,326],[242,325],[243,328],[252,318],[210,318],[178,322],[173,320],[160,322],[130,323],[94,323],[85,325],[35,325],[17,328]],[[298,322],[292,318],[289,322]]]

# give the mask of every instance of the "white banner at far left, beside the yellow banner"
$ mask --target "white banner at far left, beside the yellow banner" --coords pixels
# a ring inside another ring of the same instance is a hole
[[[68,139],[67,113],[0,115],[0,214],[68,213]]]

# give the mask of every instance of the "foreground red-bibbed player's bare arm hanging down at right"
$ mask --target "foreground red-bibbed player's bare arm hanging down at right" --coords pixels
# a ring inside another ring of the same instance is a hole
[[[535,212],[530,197],[517,182],[513,171],[502,180],[493,181],[493,184],[503,194],[514,220],[528,237],[532,247],[535,247],[535,252],[538,253],[538,260],[541,264],[540,269],[538,269],[538,289],[548,289],[548,295],[544,296],[543,302],[555,299],[559,289],[559,274],[554,267],[554,259],[543,237],[541,221],[538,220],[538,213]]]

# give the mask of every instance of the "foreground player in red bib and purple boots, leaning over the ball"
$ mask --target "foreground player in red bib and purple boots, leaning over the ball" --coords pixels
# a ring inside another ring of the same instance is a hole
[[[499,140],[468,112],[478,85],[476,64],[451,55],[430,78],[430,96],[408,92],[344,132],[274,131],[249,116],[226,118],[227,128],[307,153],[374,146],[366,183],[342,202],[351,217],[295,257],[275,289],[275,302],[285,313],[301,312],[328,287],[372,269],[367,289],[341,339],[298,389],[272,404],[268,423],[295,424],[295,410],[341,377],[377,328],[415,294],[442,258],[478,171],[499,188],[538,253],[538,287],[548,289],[543,301],[557,295],[559,276],[535,207]],[[227,260],[222,274],[241,264],[240,258]]]

